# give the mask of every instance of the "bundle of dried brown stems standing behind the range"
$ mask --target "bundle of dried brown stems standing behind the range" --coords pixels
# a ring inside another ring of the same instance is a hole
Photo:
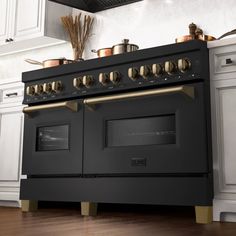
[[[88,38],[91,36],[91,30],[94,18],[89,15],[82,16],[82,13],[76,16],[61,17],[62,24],[69,34],[70,42],[74,52],[74,59],[82,59],[82,55]]]

